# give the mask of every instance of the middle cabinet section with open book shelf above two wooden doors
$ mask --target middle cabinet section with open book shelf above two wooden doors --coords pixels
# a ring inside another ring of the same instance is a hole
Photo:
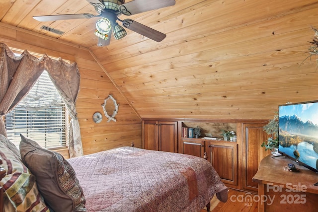
[[[221,130],[237,131],[236,123],[227,122],[179,122],[179,135],[182,127],[194,128],[198,126],[201,134],[211,133],[215,137],[221,137]],[[241,135],[241,134],[239,134]],[[241,139],[239,139],[241,141]],[[238,188],[238,142],[212,141],[207,139],[179,137],[179,153],[191,154],[198,157],[206,157],[218,172],[222,181],[229,187]]]

